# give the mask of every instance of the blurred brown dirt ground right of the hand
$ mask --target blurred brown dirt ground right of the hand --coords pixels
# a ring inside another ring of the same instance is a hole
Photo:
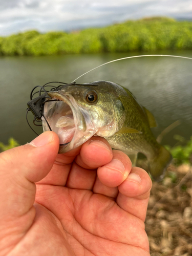
[[[151,256],[192,256],[192,166],[170,165],[153,182],[145,230]]]

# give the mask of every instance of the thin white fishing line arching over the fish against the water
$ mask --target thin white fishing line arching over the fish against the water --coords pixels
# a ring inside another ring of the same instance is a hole
[[[119,61],[119,60],[123,60],[123,59],[133,59],[133,58],[140,58],[140,57],[154,57],[154,56],[157,56],[157,57],[174,57],[174,58],[183,58],[183,59],[192,59],[192,58],[189,58],[189,57],[183,57],[183,56],[176,56],[176,55],[164,55],[164,54],[148,54],[148,55],[138,55],[138,56],[130,56],[130,57],[124,57],[124,58],[120,58],[120,59],[114,59],[114,60],[111,60],[109,62],[106,62],[104,64],[101,64],[100,66],[94,68],[94,69],[91,69],[90,71],[82,74],[81,76],[77,77],[73,82],[75,82],[77,79],[79,79],[80,77],[88,74],[89,72],[95,70],[95,69],[98,69],[106,64],[109,64],[109,63],[112,63],[112,62],[116,62],[116,61]],[[72,83],[73,83],[72,82]]]

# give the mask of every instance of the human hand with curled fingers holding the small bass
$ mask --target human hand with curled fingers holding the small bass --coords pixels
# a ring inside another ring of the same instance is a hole
[[[0,154],[0,255],[150,255],[148,174],[101,137],[58,147],[45,132]]]

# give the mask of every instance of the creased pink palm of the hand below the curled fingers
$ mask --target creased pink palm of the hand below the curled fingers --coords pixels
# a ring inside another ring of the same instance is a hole
[[[86,189],[38,186],[38,201],[54,215],[51,220],[50,213],[42,209],[39,222],[47,220],[44,241],[48,236],[55,255],[68,255],[63,254],[67,245],[69,255],[148,255],[143,250],[147,249],[143,222],[121,209],[115,199]]]

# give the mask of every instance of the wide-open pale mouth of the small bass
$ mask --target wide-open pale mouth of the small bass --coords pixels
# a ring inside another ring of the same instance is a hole
[[[60,92],[48,95],[52,100],[45,103],[44,116],[59,137],[59,153],[65,153],[79,145],[81,134],[87,129],[86,121],[73,96]],[[45,118],[42,117],[44,132],[50,131]]]

